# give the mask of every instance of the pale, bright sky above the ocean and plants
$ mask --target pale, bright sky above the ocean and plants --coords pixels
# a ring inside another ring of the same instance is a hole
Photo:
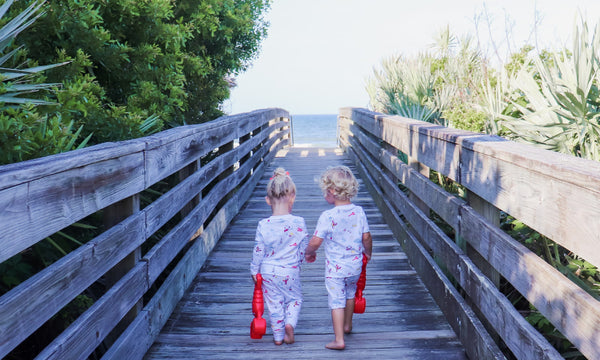
[[[381,61],[430,51],[446,27],[470,34],[500,63],[524,44],[570,46],[581,18],[593,28],[600,0],[273,0],[268,35],[223,110],[368,108],[365,85]]]

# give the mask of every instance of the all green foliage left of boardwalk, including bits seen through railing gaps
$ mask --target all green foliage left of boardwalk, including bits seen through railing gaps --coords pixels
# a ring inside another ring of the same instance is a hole
[[[268,0],[4,1],[0,164],[220,116],[233,77],[265,36],[268,6]],[[146,189],[142,204],[176,182]],[[0,295],[99,235],[102,223],[100,211],[0,263]],[[7,359],[35,357],[104,291],[102,281],[90,286]]]

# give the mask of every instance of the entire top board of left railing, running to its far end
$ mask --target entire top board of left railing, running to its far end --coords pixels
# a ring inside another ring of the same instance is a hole
[[[0,262],[87,215],[139,193],[260,124],[287,116],[281,109],[255,111],[144,139],[0,166]],[[287,123],[280,122],[273,128],[284,126]]]

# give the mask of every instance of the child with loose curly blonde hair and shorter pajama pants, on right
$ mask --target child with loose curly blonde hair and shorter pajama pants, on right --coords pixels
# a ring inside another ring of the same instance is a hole
[[[319,185],[325,200],[334,207],[319,217],[305,259],[314,262],[317,249],[325,242],[325,286],[335,334],[335,340],[325,347],[343,350],[344,334],[352,331],[354,295],[363,254],[371,259],[372,238],[362,207],[351,202],[358,192],[352,171],[346,166],[330,167],[321,175]]]

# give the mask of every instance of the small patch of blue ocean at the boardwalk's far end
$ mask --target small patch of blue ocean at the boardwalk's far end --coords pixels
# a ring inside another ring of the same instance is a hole
[[[292,115],[294,146],[337,147],[337,114]]]

